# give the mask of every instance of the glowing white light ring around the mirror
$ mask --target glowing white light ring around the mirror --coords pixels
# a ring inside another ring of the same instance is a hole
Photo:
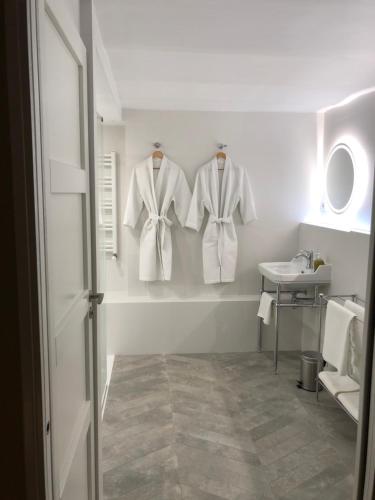
[[[354,180],[353,180],[353,189],[350,195],[350,198],[347,204],[341,208],[337,209],[332,206],[328,192],[327,192],[327,174],[328,174],[328,166],[329,162],[333,156],[333,154],[338,149],[345,149],[345,151],[350,155],[353,162],[354,169]],[[341,136],[337,141],[335,141],[335,145],[332,147],[328,160],[325,166],[325,199],[329,206],[331,212],[337,215],[346,214],[348,216],[355,216],[359,209],[361,208],[363,201],[367,192],[368,185],[368,158],[367,154],[360,144],[360,142],[352,135]]]

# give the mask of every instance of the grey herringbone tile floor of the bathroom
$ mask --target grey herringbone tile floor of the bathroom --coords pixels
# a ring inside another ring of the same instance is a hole
[[[103,428],[116,500],[351,498],[356,426],[295,387],[296,353],[119,356]]]

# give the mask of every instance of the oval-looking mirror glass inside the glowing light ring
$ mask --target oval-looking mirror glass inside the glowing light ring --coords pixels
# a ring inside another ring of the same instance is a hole
[[[326,173],[327,201],[331,210],[344,212],[350,205],[354,187],[354,161],[351,150],[338,144],[331,151]]]

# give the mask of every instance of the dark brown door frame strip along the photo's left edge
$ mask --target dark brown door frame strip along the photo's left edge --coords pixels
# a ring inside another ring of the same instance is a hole
[[[27,0],[0,2],[1,497],[44,500],[44,432]]]

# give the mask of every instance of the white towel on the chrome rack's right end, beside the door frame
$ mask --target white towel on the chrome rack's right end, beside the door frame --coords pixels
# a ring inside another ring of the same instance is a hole
[[[356,315],[356,319],[351,324],[349,330],[348,374],[356,382],[360,383],[365,308],[351,300],[345,302],[345,307],[353,311]]]

